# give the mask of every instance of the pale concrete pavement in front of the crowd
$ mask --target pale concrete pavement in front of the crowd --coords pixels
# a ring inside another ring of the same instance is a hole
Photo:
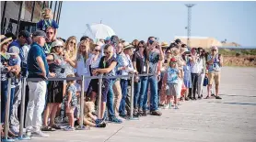
[[[179,110],[161,110],[162,116],[56,131],[29,142],[256,142],[256,68],[225,67],[221,76],[222,100],[189,101]]]

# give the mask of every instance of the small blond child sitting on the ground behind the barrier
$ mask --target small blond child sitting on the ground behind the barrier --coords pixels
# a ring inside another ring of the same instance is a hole
[[[92,115],[95,112],[94,103],[91,101],[87,101],[84,105],[84,125],[86,126],[94,126],[94,127],[106,127],[105,123],[98,124],[97,116]]]

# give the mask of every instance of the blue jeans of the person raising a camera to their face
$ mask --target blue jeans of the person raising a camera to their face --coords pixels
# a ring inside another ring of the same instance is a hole
[[[145,89],[145,97],[143,100],[143,110],[147,109],[147,91],[150,85],[150,111],[157,111],[158,109],[158,93],[157,93],[157,76],[148,77],[148,82]]]

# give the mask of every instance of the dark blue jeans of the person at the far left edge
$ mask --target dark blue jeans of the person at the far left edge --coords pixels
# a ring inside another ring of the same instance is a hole
[[[14,95],[15,95],[15,88],[12,88],[9,116],[11,115],[11,112],[13,109]],[[8,96],[8,80],[1,81],[1,123],[5,123],[7,96]]]

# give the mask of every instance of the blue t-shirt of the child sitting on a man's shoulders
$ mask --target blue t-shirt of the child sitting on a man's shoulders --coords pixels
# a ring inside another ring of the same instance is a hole
[[[53,27],[57,29],[59,26],[53,19],[42,19],[37,23],[37,28],[43,31],[46,31],[48,27]]]

